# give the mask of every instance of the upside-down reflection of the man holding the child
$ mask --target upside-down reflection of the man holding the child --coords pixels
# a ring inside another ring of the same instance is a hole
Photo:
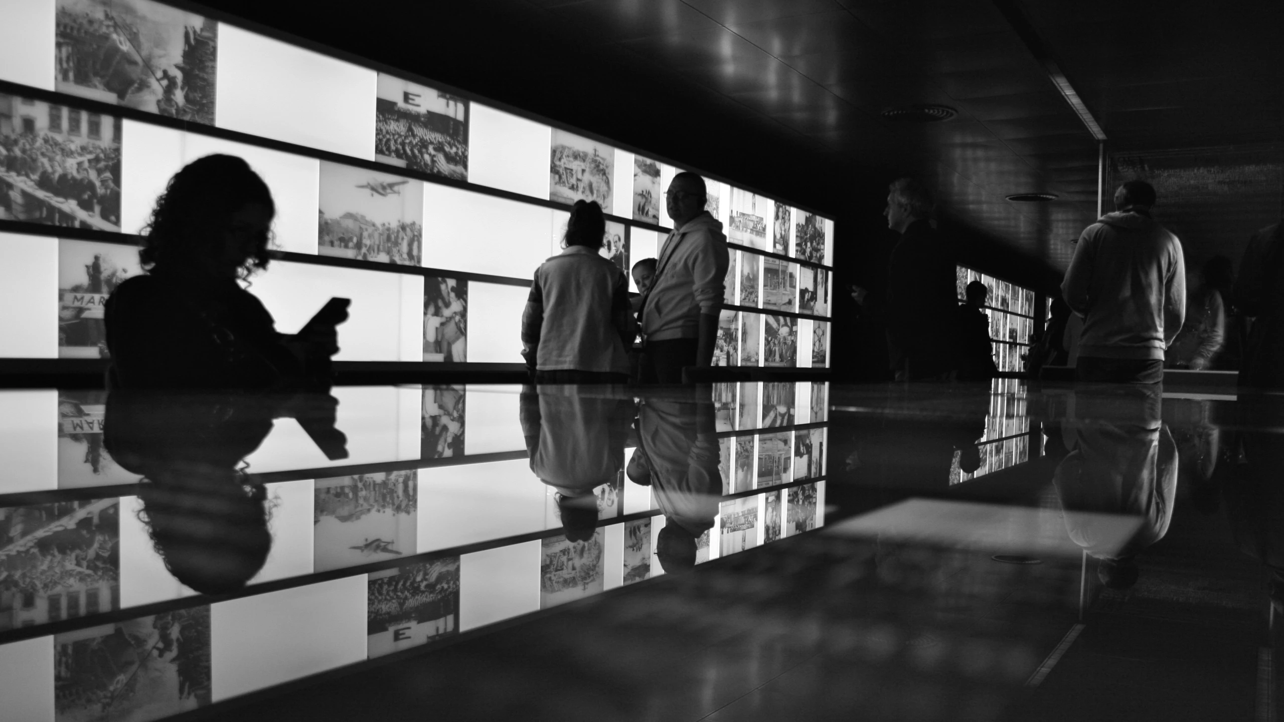
[[[665,572],[696,565],[696,541],[718,518],[722,474],[714,432],[707,385],[650,393],[638,409],[638,446],[627,473],[633,483],[651,487],[664,513],[655,555]]]

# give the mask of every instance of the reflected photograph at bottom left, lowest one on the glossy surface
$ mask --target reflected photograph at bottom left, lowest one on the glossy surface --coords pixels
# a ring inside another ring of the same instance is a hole
[[[211,701],[209,605],[54,635],[56,722],[150,722]]]

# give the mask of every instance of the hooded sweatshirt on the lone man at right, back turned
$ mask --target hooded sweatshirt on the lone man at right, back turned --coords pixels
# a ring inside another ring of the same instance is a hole
[[[1107,213],[1079,236],[1061,293],[1084,317],[1079,355],[1163,360],[1186,313],[1181,242],[1143,212]]]

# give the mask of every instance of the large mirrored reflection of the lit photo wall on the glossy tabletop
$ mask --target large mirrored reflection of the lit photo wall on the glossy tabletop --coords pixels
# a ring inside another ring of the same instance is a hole
[[[27,671],[32,689],[55,690],[41,698],[45,718],[146,722],[646,582],[684,564],[663,554],[665,537],[692,538],[702,564],[824,524],[827,384],[719,384],[720,488],[697,496],[620,474],[598,493],[597,527],[575,538],[547,516],[547,486],[520,477],[526,459],[462,452],[469,393],[501,391],[417,387],[398,397],[422,405],[419,459],[386,450],[331,478],[312,478],[306,455],[271,468],[275,480],[249,498],[270,538],[266,565],[234,599],[211,600],[168,569],[159,507],[143,493],[116,496],[122,479],[101,448],[107,393],[58,392],[59,460],[101,473],[78,488],[59,484],[53,501],[0,496],[0,659],[48,650]],[[474,421],[494,433],[494,419]],[[625,459],[638,451],[625,448]],[[507,484],[499,505],[496,484]],[[92,486],[112,486],[110,496],[92,498]],[[56,632],[41,635],[48,624]],[[326,633],[299,644],[308,630]],[[317,662],[299,664],[299,655]]]

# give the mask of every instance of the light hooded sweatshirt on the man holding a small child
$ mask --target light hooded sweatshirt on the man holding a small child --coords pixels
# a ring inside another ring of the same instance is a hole
[[[722,222],[709,212],[674,229],[660,247],[655,284],[642,302],[642,333],[650,340],[697,338],[700,315],[716,316],[731,253]]]

